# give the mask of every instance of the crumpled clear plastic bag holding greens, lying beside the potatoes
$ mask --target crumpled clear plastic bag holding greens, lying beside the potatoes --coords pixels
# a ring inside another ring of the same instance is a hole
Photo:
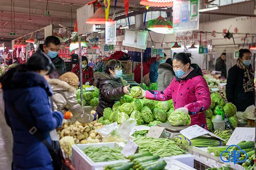
[[[130,118],[122,123],[120,126],[116,122],[110,125],[105,125],[97,132],[103,137],[102,142],[123,142],[128,141],[131,130],[136,125],[136,120]]]

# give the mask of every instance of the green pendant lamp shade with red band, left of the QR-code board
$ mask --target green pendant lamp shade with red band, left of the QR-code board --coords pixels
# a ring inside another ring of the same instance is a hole
[[[174,30],[172,28],[172,23],[167,21],[161,15],[154,20],[148,21],[148,30],[160,33],[160,34],[172,34]]]

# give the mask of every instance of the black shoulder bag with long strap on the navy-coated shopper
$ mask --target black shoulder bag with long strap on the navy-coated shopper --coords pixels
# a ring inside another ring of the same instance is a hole
[[[29,133],[34,135],[37,139],[39,139],[41,142],[44,143],[44,145],[47,147],[50,157],[52,160],[52,165],[54,170],[61,170],[62,167],[62,153],[61,153],[61,147],[58,141],[52,141],[52,145],[49,144],[49,142],[44,139],[44,136],[38,132],[37,128],[30,123],[26,122],[25,119],[19,114],[17,111],[17,108],[15,107],[14,103],[13,109],[18,119],[20,119],[20,122],[23,124],[23,126],[26,127],[27,130],[29,130]]]

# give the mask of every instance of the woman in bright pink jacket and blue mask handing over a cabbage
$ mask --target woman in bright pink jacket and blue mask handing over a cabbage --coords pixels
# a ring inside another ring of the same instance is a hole
[[[143,91],[147,99],[173,99],[175,110],[188,113],[191,125],[199,125],[207,129],[206,111],[211,105],[209,87],[203,78],[201,68],[191,64],[190,53],[177,53],[173,58],[175,78],[164,91]]]

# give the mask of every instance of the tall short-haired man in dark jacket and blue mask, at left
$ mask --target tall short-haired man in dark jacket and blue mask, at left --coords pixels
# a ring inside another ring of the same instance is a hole
[[[43,51],[51,58],[52,63],[55,65],[56,71],[58,71],[59,75],[66,73],[65,62],[61,57],[58,57],[58,51],[61,47],[61,41],[55,36],[46,37],[43,45]],[[55,72],[56,72],[55,71]],[[57,73],[53,73],[57,75]],[[52,77],[51,75],[49,75]],[[58,77],[53,77],[58,78]]]

